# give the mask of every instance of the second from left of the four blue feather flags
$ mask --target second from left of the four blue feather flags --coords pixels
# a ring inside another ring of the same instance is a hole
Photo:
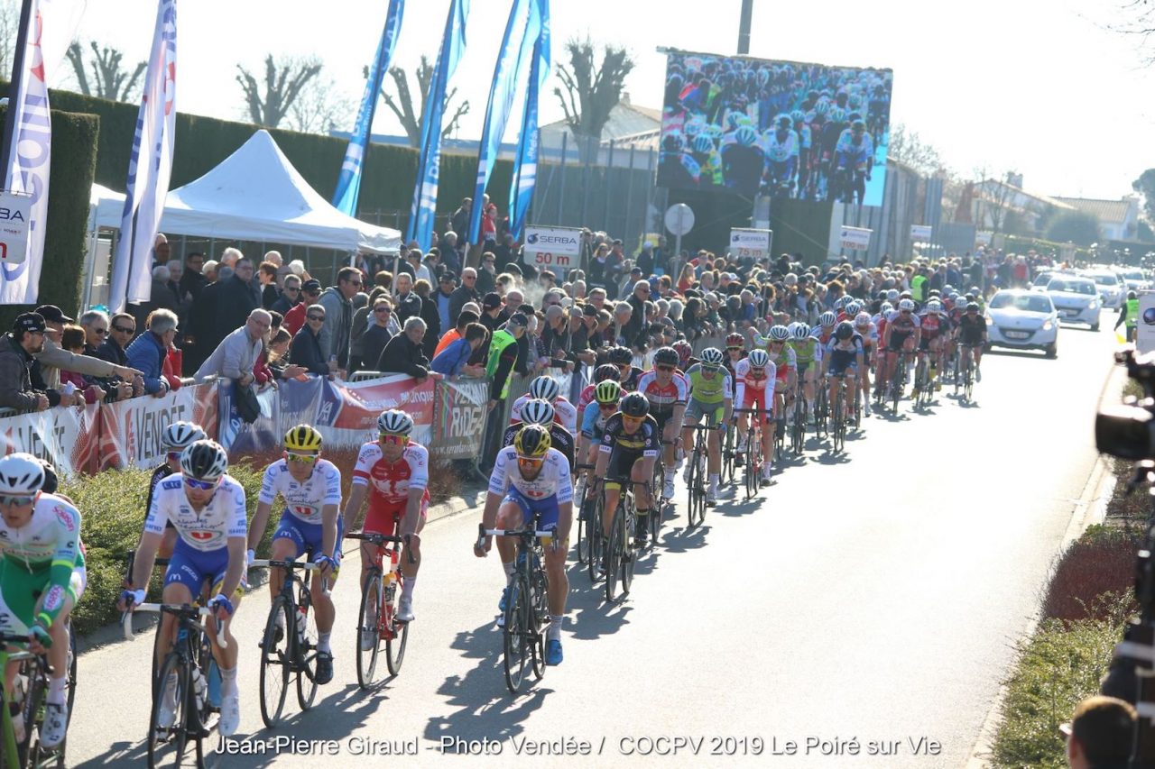
[[[433,239],[446,85],[465,50],[468,15],[469,0],[450,0],[449,16],[445,20],[445,37],[437,54],[437,66],[433,67],[433,79],[430,81],[429,96],[425,98],[425,113],[422,115],[422,155],[417,160],[417,188],[413,191],[413,208],[409,215],[405,240],[416,240],[423,249],[427,249]]]

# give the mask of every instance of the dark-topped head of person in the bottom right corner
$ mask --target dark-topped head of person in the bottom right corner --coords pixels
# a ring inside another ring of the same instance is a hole
[[[1116,697],[1087,697],[1070,723],[1059,726],[1072,769],[1126,769],[1135,741],[1137,715]]]

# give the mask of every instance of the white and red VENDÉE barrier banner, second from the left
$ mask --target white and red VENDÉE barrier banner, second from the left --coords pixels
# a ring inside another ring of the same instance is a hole
[[[164,397],[140,397],[100,405],[99,470],[159,464],[161,434],[174,421],[194,421],[216,438],[216,382],[192,384]],[[95,433],[94,433],[95,434]]]

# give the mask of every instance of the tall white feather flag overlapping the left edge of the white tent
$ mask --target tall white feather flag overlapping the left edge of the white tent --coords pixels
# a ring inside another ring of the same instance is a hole
[[[159,0],[112,267],[109,305],[114,312],[122,312],[126,303],[150,299],[152,245],[172,176],[176,121],[177,0]]]

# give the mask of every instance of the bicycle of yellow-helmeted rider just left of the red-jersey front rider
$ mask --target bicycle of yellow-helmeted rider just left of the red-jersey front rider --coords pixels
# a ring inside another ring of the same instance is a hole
[[[269,618],[261,636],[261,721],[273,729],[281,721],[289,678],[297,678],[297,703],[308,710],[316,696],[318,629],[313,596],[298,572],[316,572],[321,567],[307,561],[258,559],[253,567],[284,569],[281,592],[269,606]]]

